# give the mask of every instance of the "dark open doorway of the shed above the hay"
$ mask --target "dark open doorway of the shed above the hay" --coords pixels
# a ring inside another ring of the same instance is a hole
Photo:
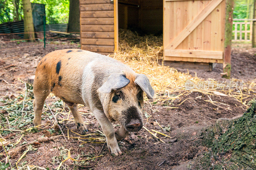
[[[118,29],[163,34],[163,0],[118,0]]]

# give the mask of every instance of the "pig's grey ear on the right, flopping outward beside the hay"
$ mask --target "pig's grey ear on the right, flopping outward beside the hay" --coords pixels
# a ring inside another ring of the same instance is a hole
[[[148,77],[144,74],[138,74],[135,78],[135,84],[140,86],[140,88],[147,94],[149,99],[153,99],[154,90],[152,89]]]

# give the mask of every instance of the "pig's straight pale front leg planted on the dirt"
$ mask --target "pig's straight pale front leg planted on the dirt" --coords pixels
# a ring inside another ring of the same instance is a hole
[[[112,123],[108,120],[106,115],[101,110],[94,110],[94,116],[96,117],[97,121],[100,123],[100,126],[106,135],[108,150],[111,150],[111,153],[115,155],[122,154],[115,137],[115,131]]]

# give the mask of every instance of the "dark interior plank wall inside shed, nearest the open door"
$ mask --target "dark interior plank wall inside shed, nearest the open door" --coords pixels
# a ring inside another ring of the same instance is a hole
[[[140,5],[140,28],[146,33],[163,33],[163,0],[141,0]]]

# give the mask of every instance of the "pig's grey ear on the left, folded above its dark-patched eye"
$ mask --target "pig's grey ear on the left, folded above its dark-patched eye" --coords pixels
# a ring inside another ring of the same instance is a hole
[[[111,74],[107,81],[99,88],[100,93],[110,93],[111,90],[119,90],[130,83],[123,74]]]

